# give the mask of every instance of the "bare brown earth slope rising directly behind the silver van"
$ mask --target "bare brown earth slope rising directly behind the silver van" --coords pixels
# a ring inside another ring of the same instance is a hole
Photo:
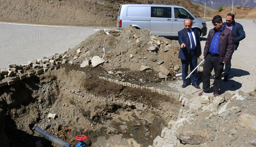
[[[178,5],[199,16],[190,0],[1,0],[0,21],[115,26],[120,4],[128,3]]]

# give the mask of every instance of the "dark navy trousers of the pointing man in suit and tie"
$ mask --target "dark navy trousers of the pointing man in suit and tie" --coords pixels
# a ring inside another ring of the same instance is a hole
[[[187,60],[181,60],[182,63],[182,79],[183,79],[183,84],[189,83],[189,78],[186,79],[187,77],[187,72],[189,71],[189,65],[190,65],[190,72],[193,71],[194,68],[197,66],[197,56],[195,51],[189,51],[189,59]],[[198,78],[197,78],[197,70],[195,70],[191,76],[191,82],[192,84],[196,84]]]

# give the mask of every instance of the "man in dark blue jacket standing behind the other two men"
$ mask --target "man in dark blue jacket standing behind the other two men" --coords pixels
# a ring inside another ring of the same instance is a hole
[[[234,50],[237,50],[237,47],[239,45],[239,41],[246,38],[246,33],[244,32],[244,28],[241,24],[238,22],[235,22],[235,15],[233,13],[228,13],[226,16],[226,22],[223,23],[224,27],[229,28],[232,30],[234,34]],[[231,60],[228,61],[228,63],[225,64],[225,70],[224,70],[224,81],[228,81],[228,76],[231,69]],[[214,79],[215,76],[211,76],[211,79]]]

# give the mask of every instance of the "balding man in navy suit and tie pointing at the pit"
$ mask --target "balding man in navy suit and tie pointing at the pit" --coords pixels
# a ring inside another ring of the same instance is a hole
[[[186,79],[187,72],[189,70],[190,65],[190,72],[197,66],[197,58],[201,55],[201,44],[200,44],[200,35],[197,29],[191,28],[192,21],[190,19],[186,19],[184,21],[184,29],[178,32],[179,36],[179,43],[180,43],[180,53],[178,58],[181,59],[182,63],[182,79],[183,85],[182,88],[185,88],[189,85],[189,79]],[[191,74],[191,82],[192,86],[195,88],[200,89],[199,85],[197,84],[197,70],[195,70]]]

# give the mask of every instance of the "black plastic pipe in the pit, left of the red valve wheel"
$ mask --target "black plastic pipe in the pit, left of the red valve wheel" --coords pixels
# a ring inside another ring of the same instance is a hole
[[[43,137],[45,137],[46,139],[48,139],[49,141],[57,144],[58,146],[61,147],[75,147],[72,144],[67,143],[66,141],[61,140],[60,138],[50,134],[47,131],[42,130],[41,128],[39,128],[38,126],[34,126],[34,129],[39,132]]]

